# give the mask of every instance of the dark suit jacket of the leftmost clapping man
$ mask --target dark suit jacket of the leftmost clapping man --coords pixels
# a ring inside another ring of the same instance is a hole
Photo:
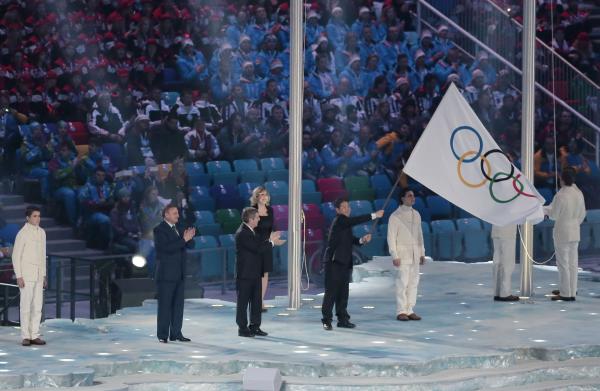
[[[179,232],[179,231],[178,231]],[[194,240],[185,242],[164,220],[154,228],[156,248],[156,281],[181,281],[185,279],[187,249],[194,248]]]

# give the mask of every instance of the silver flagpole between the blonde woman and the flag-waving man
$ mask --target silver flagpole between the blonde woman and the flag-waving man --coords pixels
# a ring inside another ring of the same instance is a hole
[[[302,105],[304,69],[302,42],[303,1],[290,1],[290,161],[288,214],[288,297],[289,308],[300,308],[302,212]]]

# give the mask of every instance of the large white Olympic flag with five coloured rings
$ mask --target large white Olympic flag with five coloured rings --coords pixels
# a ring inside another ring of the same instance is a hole
[[[544,198],[512,164],[452,84],[404,173],[488,223],[543,220]]]

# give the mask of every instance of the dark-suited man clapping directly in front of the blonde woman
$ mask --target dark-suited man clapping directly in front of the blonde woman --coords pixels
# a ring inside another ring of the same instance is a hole
[[[261,240],[254,232],[260,217],[255,208],[244,208],[242,224],[235,233],[235,272],[237,288],[236,323],[240,337],[264,337],[260,329],[262,294],[262,253],[283,243],[280,233],[272,232],[268,240]],[[248,305],[250,305],[250,327],[248,327]]]

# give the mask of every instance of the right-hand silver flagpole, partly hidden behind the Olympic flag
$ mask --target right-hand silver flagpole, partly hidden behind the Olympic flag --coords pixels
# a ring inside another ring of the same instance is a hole
[[[535,84],[535,1],[523,2],[523,79],[521,116],[521,171],[533,183]],[[521,227],[521,296],[532,295],[533,226]],[[529,256],[528,256],[529,254]]]

